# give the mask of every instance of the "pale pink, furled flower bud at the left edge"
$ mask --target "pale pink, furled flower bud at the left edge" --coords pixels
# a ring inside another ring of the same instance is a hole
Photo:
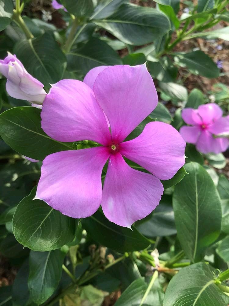
[[[8,52],[8,56],[0,60],[0,73],[7,78],[6,91],[11,97],[42,104],[46,96],[44,85],[26,71],[16,55]]]

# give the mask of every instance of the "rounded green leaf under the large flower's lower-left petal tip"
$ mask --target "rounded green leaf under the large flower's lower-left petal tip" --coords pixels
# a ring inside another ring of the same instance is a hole
[[[33,200],[36,188],[21,200],[13,216],[18,242],[34,251],[50,251],[72,241],[75,219],[62,215],[42,200]]]

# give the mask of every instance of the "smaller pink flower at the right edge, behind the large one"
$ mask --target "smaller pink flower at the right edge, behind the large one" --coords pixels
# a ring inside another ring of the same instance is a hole
[[[197,110],[185,108],[182,110],[182,118],[191,126],[182,126],[180,134],[186,142],[195,144],[197,150],[204,154],[224,152],[229,140],[214,137],[229,133],[229,116],[222,115],[221,108],[215,103],[200,105]]]

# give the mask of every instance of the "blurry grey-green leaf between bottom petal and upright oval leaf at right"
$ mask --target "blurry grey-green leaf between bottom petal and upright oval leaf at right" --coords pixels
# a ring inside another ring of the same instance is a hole
[[[176,234],[172,197],[163,195],[154,211],[143,220],[136,222],[136,228],[149,238]]]

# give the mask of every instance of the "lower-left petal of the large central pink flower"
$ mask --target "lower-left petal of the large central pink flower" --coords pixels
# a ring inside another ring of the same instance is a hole
[[[48,155],[35,199],[73,218],[93,215],[102,201],[101,173],[109,158],[104,147]]]

